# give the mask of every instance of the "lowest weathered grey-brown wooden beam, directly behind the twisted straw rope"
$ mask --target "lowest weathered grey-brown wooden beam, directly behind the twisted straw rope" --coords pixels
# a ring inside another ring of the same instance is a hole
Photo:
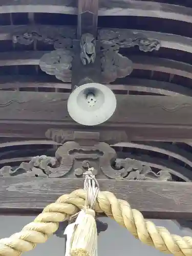
[[[191,219],[190,182],[99,180],[99,185],[128,201],[146,218]],[[37,214],[60,195],[82,187],[83,179],[4,177],[0,179],[0,213]]]

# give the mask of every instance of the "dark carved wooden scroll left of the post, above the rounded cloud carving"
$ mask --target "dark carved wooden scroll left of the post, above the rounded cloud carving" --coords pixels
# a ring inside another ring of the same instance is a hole
[[[12,33],[14,43],[31,45],[35,41],[41,41],[53,45],[55,49],[71,49],[75,38],[75,29],[63,26],[19,26]]]

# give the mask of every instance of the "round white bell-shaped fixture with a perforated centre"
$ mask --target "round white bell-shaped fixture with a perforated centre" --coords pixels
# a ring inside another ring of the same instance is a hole
[[[75,89],[68,99],[71,118],[82,125],[98,125],[116,110],[115,94],[100,83],[87,83]]]

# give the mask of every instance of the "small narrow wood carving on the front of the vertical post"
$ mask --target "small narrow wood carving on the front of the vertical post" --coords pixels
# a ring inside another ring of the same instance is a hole
[[[80,40],[80,58],[83,65],[93,63],[96,57],[96,41],[92,34],[86,33],[81,36]]]

